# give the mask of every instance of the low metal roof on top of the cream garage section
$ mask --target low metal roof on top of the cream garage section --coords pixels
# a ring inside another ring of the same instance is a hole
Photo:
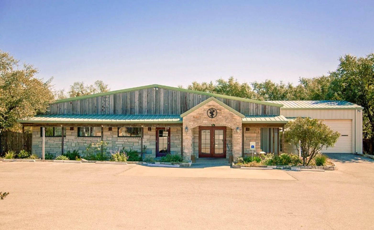
[[[284,109],[364,109],[346,101],[269,101],[282,104]]]

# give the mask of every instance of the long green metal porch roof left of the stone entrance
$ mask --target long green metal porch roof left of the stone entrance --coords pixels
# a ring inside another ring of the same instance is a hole
[[[18,120],[20,123],[55,123],[55,124],[149,124],[183,123],[180,115],[37,115]]]

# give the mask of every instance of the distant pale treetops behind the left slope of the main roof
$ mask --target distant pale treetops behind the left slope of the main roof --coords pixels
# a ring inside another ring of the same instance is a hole
[[[70,90],[68,91],[69,97],[79,97],[89,94],[95,93],[104,93],[108,92],[110,88],[108,88],[107,84],[104,84],[103,81],[97,80],[93,85],[85,85],[82,82],[74,82],[73,85],[70,85]],[[64,90],[60,90],[57,95],[64,95]]]

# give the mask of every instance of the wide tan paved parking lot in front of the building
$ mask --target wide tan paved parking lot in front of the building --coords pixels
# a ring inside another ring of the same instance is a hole
[[[0,229],[373,229],[374,162],[332,157],[337,171],[273,170],[279,178],[267,178],[271,170],[256,170],[252,179],[240,178],[251,170],[226,166],[201,176],[202,169],[0,162],[0,190],[10,192],[0,201]],[[220,170],[233,176],[217,177]]]

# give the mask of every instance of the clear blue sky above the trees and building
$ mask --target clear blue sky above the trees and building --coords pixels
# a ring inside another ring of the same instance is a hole
[[[374,52],[373,1],[0,0],[0,49],[56,88],[294,82]]]

